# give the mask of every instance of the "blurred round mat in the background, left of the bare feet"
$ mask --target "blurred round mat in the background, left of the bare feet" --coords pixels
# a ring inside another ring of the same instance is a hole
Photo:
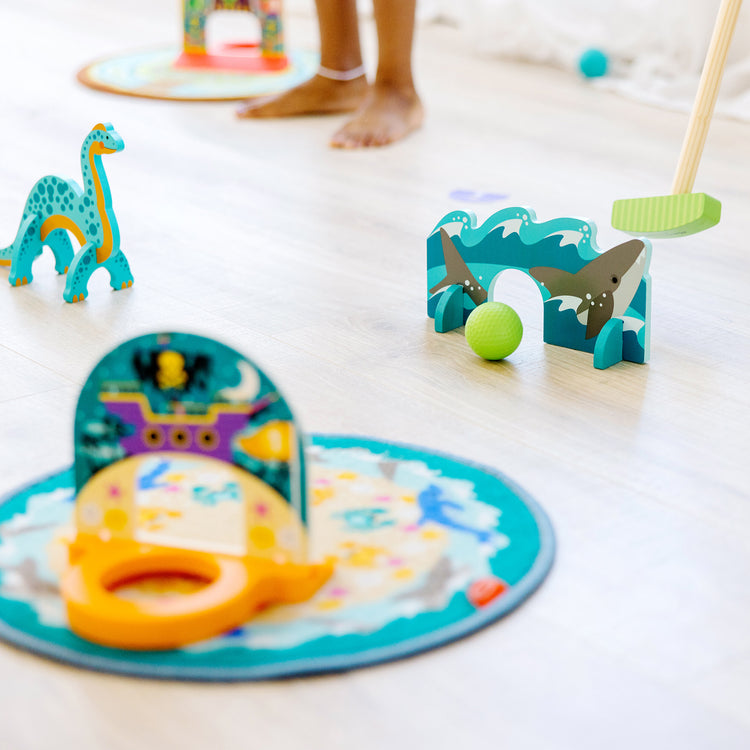
[[[100,91],[147,99],[229,101],[286,91],[311,78],[319,62],[317,52],[295,50],[279,71],[201,70],[176,67],[180,52],[167,47],[115,55],[84,67],[78,80]]]

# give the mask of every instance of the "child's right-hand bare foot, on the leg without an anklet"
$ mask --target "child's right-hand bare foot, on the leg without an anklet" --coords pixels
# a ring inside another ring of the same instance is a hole
[[[357,114],[331,139],[335,148],[385,146],[416,130],[424,113],[413,88],[375,84]]]

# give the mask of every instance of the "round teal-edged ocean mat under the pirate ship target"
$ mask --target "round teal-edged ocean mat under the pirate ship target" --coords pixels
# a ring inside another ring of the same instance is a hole
[[[200,519],[236,511],[232,474],[208,476],[200,458],[194,461],[178,456],[140,469],[139,512],[155,537],[170,522],[179,535],[201,533],[205,523],[186,525],[183,506],[199,509]],[[58,591],[75,509],[67,469],[0,503],[0,638],[58,661],[141,677],[238,681],[342,671],[489,625],[519,606],[552,565],[546,514],[493,469],[414,446],[328,435],[309,439],[307,461],[311,557],[335,561],[333,576],[310,600],[269,608],[243,627],[172,651],[125,651],[79,638]],[[210,527],[204,533],[210,537]],[[199,585],[151,578],[117,592],[184,596]]]

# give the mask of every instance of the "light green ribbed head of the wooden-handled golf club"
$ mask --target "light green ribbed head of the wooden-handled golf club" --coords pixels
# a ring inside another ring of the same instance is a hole
[[[615,201],[612,226],[638,237],[684,237],[716,226],[721,203],[705,193]]]

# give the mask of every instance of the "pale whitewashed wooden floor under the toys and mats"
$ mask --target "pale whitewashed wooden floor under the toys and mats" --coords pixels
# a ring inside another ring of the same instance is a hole
[[[428,118],[384,150],[327,148],[341,118],[238,122],[233,105],[116,97],[75,71],[177,42],[176,3],[2,3],[0,244],[44,174],[78,177],[88,128],[126,141],[106,166],[136,283],[62,301],[51,256],[34,282],[0,271],[0,494],[72,460],[78,390],[125,338],[220,338],[279,380],[307,429],[373,435],[497,466],[555,525],[539,592],[483,632],[410,660],[247,685],[145,682],[0,645],[0,747],[750,747],[750,130],[716,121],[697,190],[715,229],[657,242],[652,359],[595,370],[546,346],[529,284],[505,363],[426,316],[425,238],[453,208],[529,205],[621,241],[612,201],[668,192],[684,115],[568,74],[478,59],[421,30]],[[314,46],[309,18],[292,44]],[[366,50],[372,60],[372,29]],[[460,203],[453,191],[506,194]]]

